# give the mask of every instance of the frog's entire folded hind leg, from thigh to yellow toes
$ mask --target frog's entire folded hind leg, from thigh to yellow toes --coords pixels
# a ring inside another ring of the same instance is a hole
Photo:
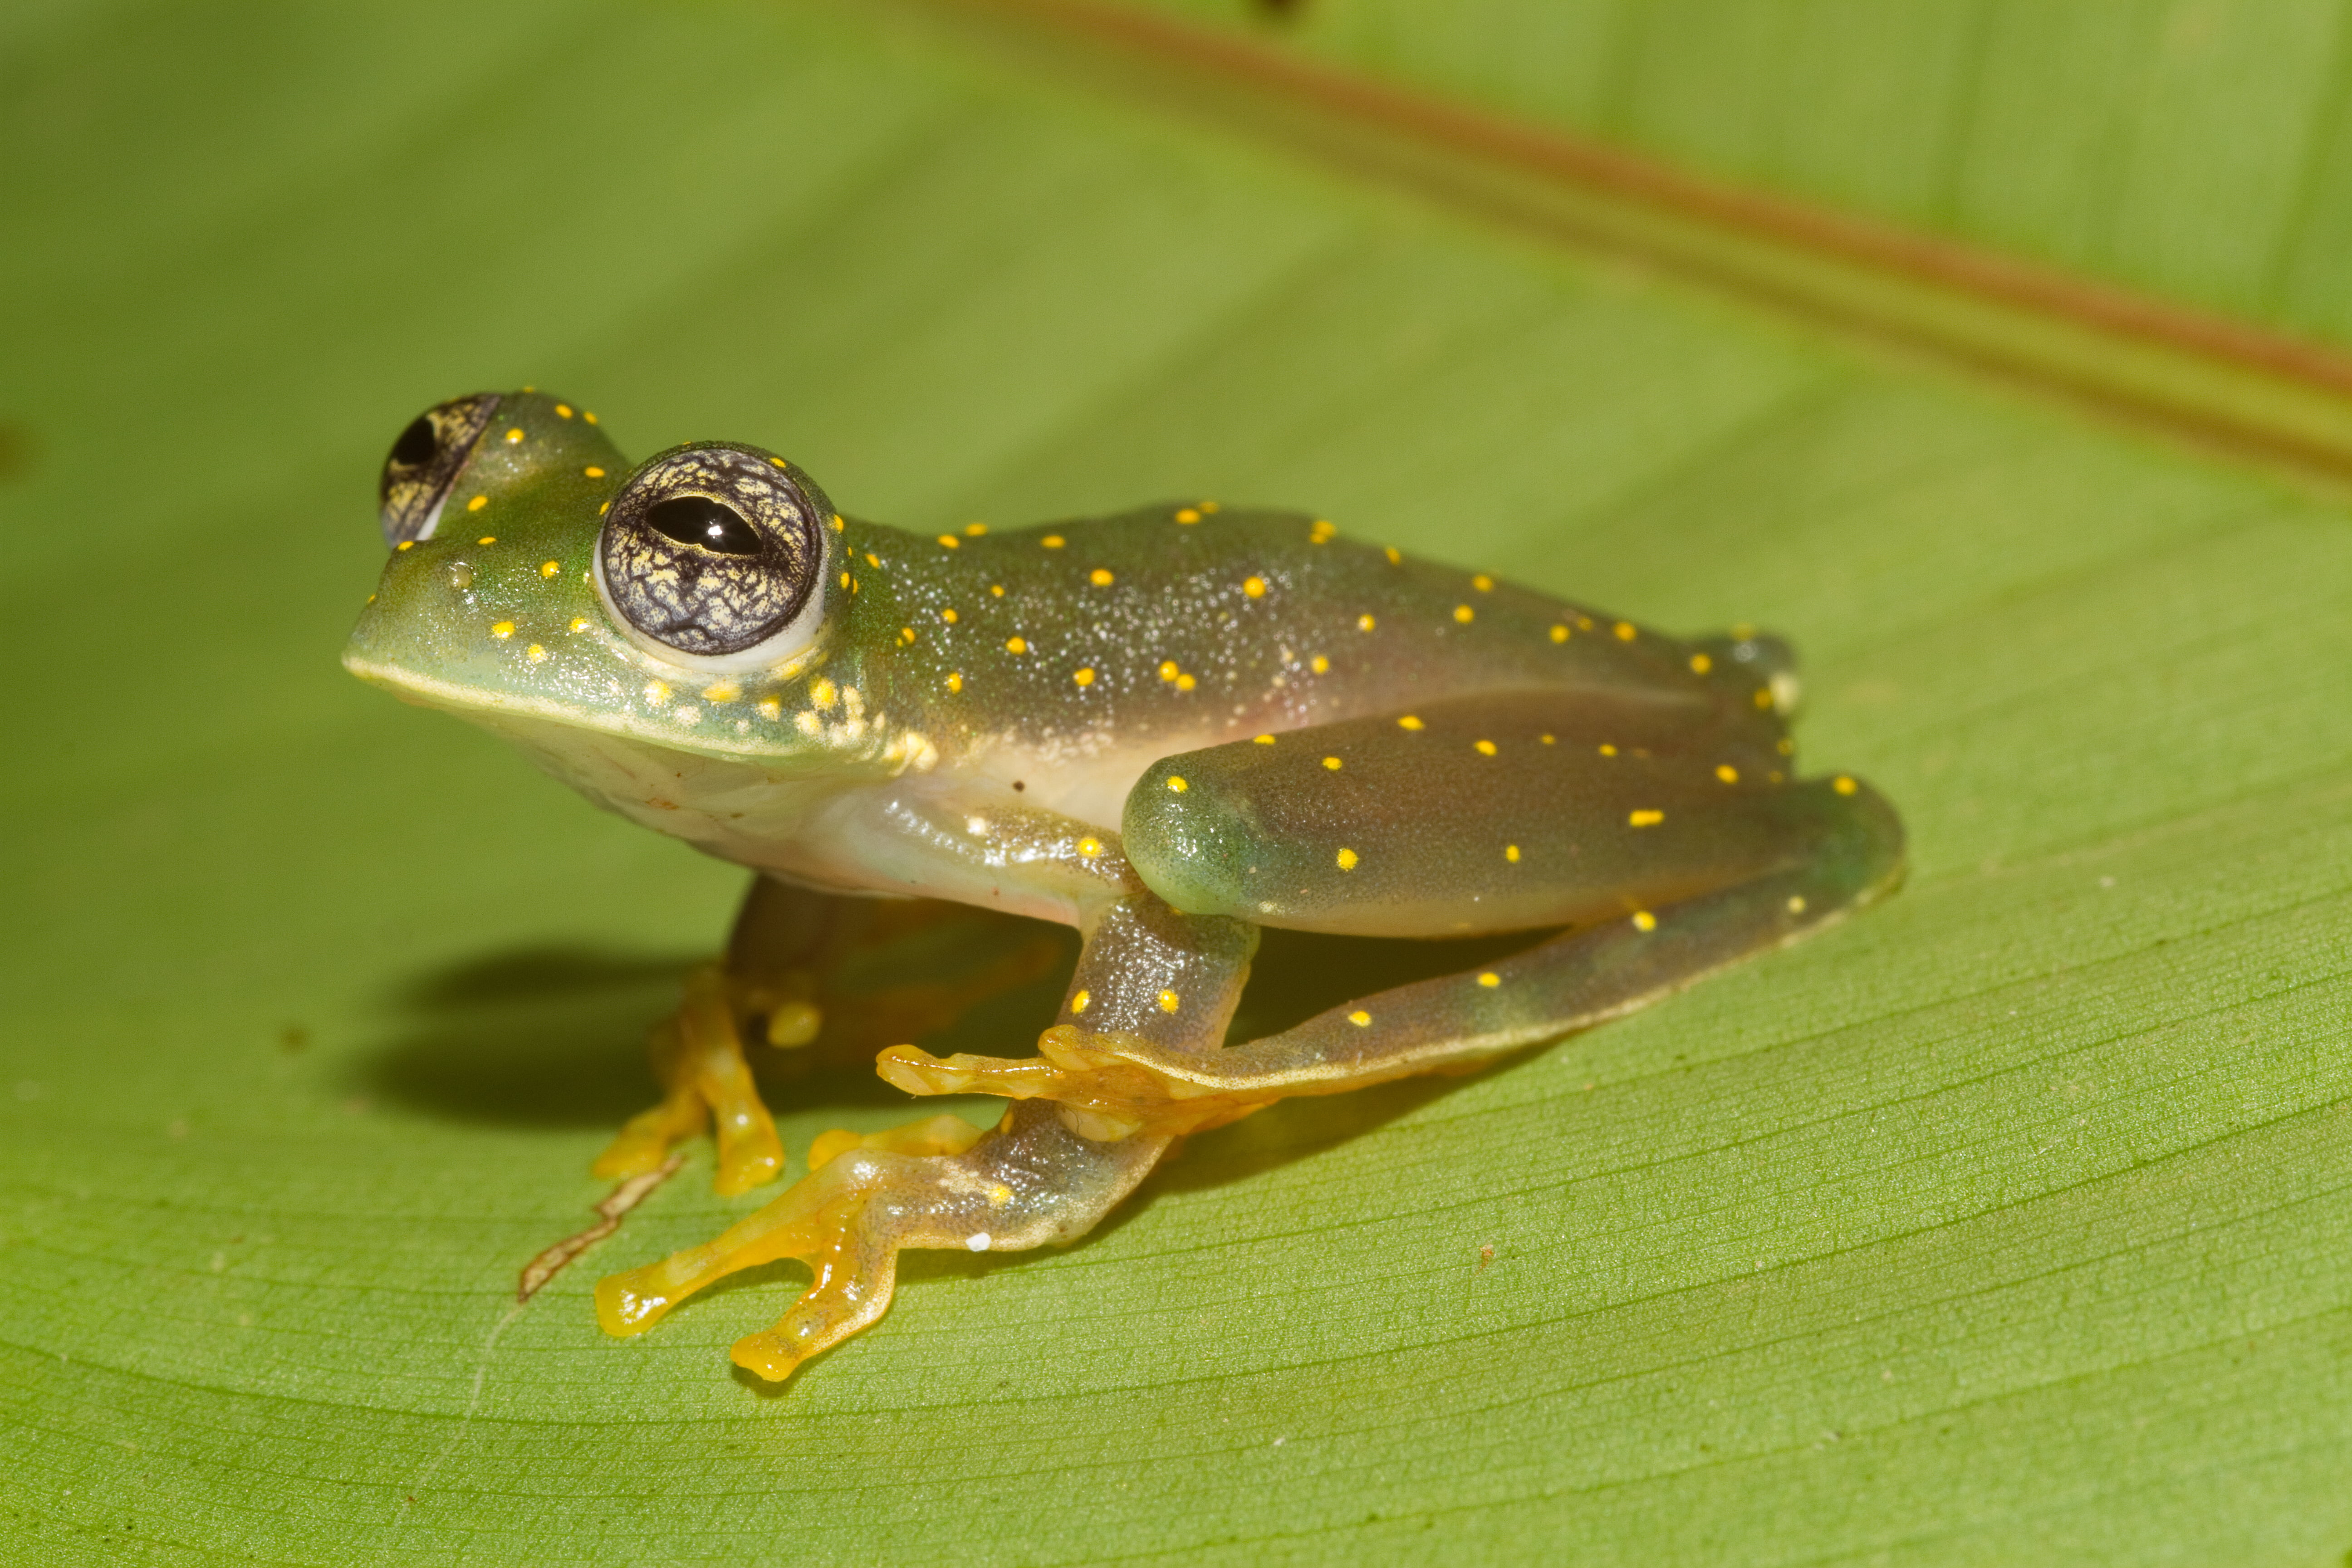
[[[1538,691],[1171,757],[1129,797],[1127,853],[1178,907],[1367,936],[1569,931],[1223,1051],[1070,1020],[1037,1063],[901,1046],[880,1070],[1188,1131],[1613,1018],[1893,886],[1886,802],[1846,776],[1778,778],[1769,733]]]

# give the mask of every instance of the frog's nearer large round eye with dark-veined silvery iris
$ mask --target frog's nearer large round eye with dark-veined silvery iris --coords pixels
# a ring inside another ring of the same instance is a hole
[[[597,590],[644,649],[699,665],[790,658],[823,614],[828,508],[748,447],[647,461],[604,515]]]

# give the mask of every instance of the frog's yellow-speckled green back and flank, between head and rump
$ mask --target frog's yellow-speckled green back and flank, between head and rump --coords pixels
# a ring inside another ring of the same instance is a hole
[[[936,731],[1014,736],[1047,762],[1117,750],[1141,771],[1174,750],[1526,686],[1762,712],[1785,663],[1769,642],[1682,642],[1308,512],[1167,503],[993,534],[858,534],[877,588],[861,611],[896,623],[894,689]]]

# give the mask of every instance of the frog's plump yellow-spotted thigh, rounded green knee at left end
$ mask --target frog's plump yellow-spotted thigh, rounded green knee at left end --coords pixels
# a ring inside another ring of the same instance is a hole
[[[1524,931],[1797,863],[1809,830],[1780,766],[1773,733],[1698,701],[1498,691],[1167,757],[1129,795],[1122,837],[1190,914]]]

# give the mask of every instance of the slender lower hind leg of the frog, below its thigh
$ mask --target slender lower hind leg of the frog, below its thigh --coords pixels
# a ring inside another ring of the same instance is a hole
[[[1889,891],[1893,809],[1856,778],[1773,790],[1795,860],[1679,903],[1616,914],[1470,973],[1399,985],[1211,1058],[1117,1041],[1176,1095],[1261,1103],[1446,1070],[1628,1013]]]

